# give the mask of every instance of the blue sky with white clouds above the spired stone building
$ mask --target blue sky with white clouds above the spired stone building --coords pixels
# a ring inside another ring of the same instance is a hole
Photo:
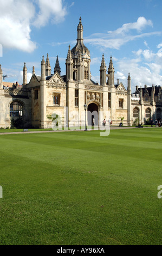
[[[42,55],[49,54],[52,72],[59,56],[65,74],[68,45],[76,44],[82,18],[83,38],[90,51],[92,79],[100,82],[102,53],[108,68],[113,58],[115,81],[127,88],[162,86],[161,0],[0,0],[0,57],[5,81],[22,84],[24,62],[28,81],[33,65],[41,74]],[[1,52],[0,52],[1,54]]]

